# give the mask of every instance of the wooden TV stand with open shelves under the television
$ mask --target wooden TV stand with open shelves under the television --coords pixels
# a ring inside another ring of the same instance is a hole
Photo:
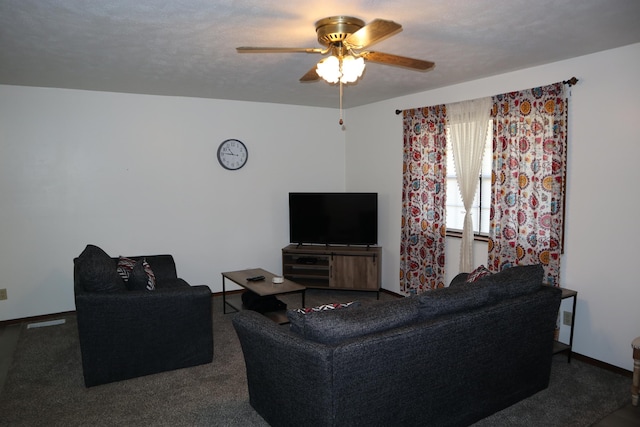
[[[286,279],[319,289],[380,292],[380,246],[319,246],[292,244],[282,248]]]

